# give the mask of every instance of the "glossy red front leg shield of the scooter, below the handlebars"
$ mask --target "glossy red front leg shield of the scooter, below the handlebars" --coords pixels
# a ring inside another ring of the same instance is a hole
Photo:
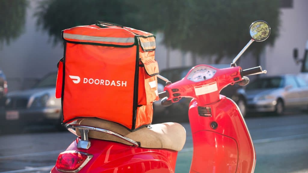
[[[210,116],[198,114],[195,99],[190,103],[194,148],[190,172],[253,172],[256,155],[245,121],[231,99],[220,97],[215,103],[202,105],[211,110]]]

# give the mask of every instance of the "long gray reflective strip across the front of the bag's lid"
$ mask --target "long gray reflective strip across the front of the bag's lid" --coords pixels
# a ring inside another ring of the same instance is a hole
[[[63,38],[87,40],[87,41],[100,41],[100,42],[135,43],[135,38],[96,37],[96,36],[67,34],[67,33],[63,33]]]

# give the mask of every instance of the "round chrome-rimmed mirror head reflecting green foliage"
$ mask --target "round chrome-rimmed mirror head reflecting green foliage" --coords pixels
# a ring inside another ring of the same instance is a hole
[[[254,41],[262,42],[270,36],[270,26],[267,22],[258,20],[250,25],[249,33]]]

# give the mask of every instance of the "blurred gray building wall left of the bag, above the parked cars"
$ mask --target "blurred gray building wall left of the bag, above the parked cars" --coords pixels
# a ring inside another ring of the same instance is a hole
[[[6,74],[9,92],[29,88],[38,78],[56,71],[63,56],[62,43],[54,45],[48,33],[37,28],[34,8],[39,1],[29,2],[25,32],[0,49],[0,68]]]

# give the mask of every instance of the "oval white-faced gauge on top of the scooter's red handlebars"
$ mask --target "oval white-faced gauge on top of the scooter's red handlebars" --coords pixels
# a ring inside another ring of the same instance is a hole
[[[188,74],[187,79],[194,82],[200,82],[212,78],[215,74],[216,70],[211,67],[198,66]]]

